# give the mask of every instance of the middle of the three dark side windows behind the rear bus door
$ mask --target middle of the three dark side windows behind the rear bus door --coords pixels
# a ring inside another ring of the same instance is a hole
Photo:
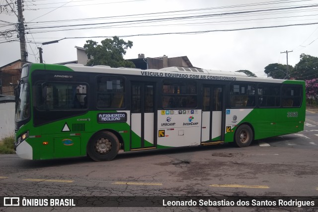
[[[279,107],[280,106],[280,85],[258,84],[257,97],[259,107]]]

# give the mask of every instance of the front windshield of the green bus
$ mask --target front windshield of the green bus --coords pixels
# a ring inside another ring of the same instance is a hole
[[[15,104],[15,121],[27,119],[30,115],[28,83],[21,83],[17,87]]]

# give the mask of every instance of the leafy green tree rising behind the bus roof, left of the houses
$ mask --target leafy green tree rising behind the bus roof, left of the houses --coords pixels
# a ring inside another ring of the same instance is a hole
[[[135,64],[131,61],[125,60],[124,55],[126,50],[133,46],[132,41],[124,41],[117,36],[106,38],[101,41],[101,45],[96,41],[86,40],[84,45],[85,53],[88,57],[86,66],[105,65],[114,68],[127,67],[135,68]]]

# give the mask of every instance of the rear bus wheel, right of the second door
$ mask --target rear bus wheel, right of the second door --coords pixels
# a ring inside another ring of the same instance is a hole
[[[242,124],[235,132],[235,144],[238,147],[247,147],[253,139],[253,131],[250,126]]]

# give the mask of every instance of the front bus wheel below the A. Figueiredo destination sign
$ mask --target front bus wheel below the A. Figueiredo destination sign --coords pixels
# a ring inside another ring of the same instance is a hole
[[[119,151],[119,140],[109,131],[94,134],[87,144],[87,154],[94,161],[110,161]]]

